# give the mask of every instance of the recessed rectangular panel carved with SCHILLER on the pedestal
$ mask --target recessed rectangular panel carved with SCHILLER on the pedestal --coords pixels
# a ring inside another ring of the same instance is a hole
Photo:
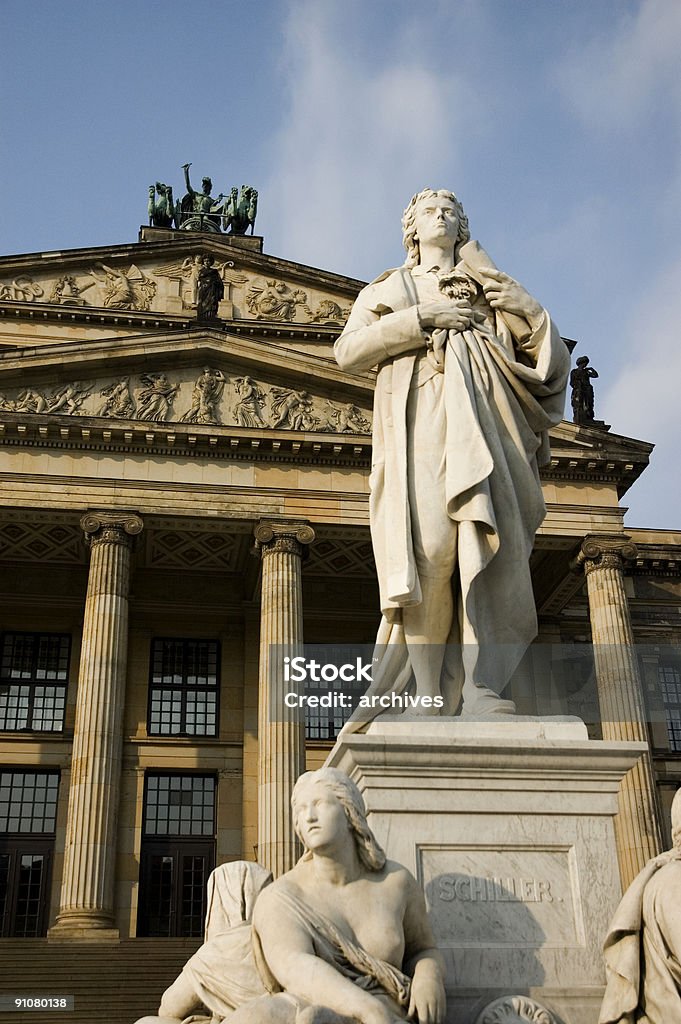
[[[574,851],[567,846],[422,846],[419,876],[437,944],[580,946]]]

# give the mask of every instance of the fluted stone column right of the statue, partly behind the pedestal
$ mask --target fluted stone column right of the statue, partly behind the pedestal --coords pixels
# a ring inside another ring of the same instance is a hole
[[[643,689],[634,650],[623,577],[625,559],[636,548],[623,534],[585,539],[578,564],[584,567],[603,739],[647,742]],[[662,849],[655,786],[648,751],[623,779],[615,818],[620,873],[624,888],[646,860]]]

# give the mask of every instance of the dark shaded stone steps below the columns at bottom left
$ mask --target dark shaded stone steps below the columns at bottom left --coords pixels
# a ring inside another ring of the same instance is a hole
[[[199,945],[196,939],[116,945],[0,939],[2,995],[75,996],[73,1013],[22,1011],[7,1015],[7,1024],[133,1024],[156,1013],[161,993]]]

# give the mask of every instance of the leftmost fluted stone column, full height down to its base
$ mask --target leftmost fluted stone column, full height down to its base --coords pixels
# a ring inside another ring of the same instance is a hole
[[[50,938],[117,938],[116,827],[128,650],[130,554],[142,520],[88,512],[90,545],[61,898]]]

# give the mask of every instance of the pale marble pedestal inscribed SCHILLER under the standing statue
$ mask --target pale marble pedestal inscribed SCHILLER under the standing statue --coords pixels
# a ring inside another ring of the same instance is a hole
[[[357,783],[386,853],[423,886],[448,1024],[481,1022],[511,994],[560,1024],[596,1024],[622,895],[618,790],[644,750],[590,741],[579,722],[379,721],[341,733],[327,765]]]

